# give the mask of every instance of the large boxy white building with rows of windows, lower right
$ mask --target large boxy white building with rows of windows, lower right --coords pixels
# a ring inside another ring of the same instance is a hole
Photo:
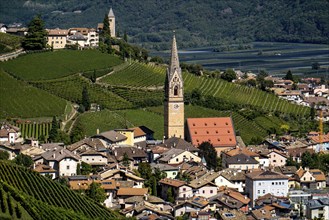
[[[253,171],[246,174],[246,192],[251,201],[268,193],[274,196],[287,196],[288,179],[288,176],[274,171]]]

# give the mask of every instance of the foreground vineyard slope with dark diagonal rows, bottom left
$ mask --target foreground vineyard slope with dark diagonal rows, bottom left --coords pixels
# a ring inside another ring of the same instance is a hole
[[[0,191],[9,192],[33,219],[121,219],[86,196],[6,162],[0,162]]]

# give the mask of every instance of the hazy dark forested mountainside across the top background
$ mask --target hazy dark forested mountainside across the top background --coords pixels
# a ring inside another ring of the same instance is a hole
[[[329,42],[328,0],[16,0],[1,3],[2,23],[41,14],[48,28],[96,27],[112,7],[117,30],[149,49],[251,41]]]

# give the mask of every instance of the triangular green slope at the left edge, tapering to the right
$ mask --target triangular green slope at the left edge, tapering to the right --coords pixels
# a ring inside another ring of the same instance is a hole
[[[0,118],[52,117],[64,114],[67,102],[18,81],[0,70]]]

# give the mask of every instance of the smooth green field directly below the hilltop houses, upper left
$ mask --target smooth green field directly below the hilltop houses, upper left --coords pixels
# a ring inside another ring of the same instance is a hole
[[[59,50],[27,54],[0,66],[27,81],[56,79],[74,73],[106,69],[122,63],[119,57],[98,50]]]

